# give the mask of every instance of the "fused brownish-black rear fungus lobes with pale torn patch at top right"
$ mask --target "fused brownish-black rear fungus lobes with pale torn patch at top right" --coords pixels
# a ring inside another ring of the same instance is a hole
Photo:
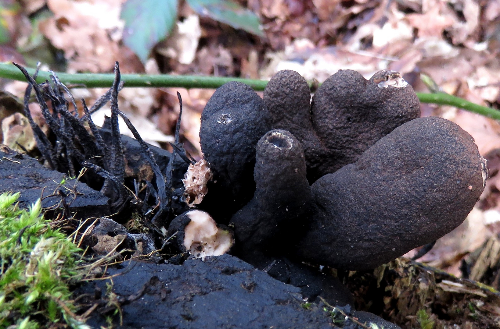
[[[411,86],[389,70],[369,80],[339,70],[321,84],[312,103],[305,79],[283,70],[271,78],[263,99],[272,128],[288,130],[302,143],[311,183],[355,162],[381,137],[420,116]]]

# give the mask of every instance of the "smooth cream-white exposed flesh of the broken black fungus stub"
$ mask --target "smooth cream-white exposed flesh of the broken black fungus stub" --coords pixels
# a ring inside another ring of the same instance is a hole
[[[204,260],[207,256],[220,256],[232,247],[232,236],[217,228],[215,221],[201,210],[186,213],[191,220],[184,227],[184,247],[194,258]]]

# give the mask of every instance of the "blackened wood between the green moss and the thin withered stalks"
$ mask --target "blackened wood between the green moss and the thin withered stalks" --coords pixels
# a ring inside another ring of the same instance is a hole
[[[28,207],[41,197],[43,208],[62,211],[66,207],[75,218],[110,215],[109,199],[86,184],[6,147],[0,150],[0,160],[0,193],[19,192],[20,206]],[[64,200],[59,191],[65,195]]]

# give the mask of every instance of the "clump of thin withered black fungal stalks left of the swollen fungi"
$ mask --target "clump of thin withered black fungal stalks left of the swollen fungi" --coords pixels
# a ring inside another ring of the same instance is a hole
[[[81,180],[93,188],[100,189],[111,200],[111,210],[119,213],[124,207],[128,206],[130,200],[130,194],[124,188],[124,184],[127,183],[129,174],[135,174],[135,170],[130,169],[129,164],[137,164],[136,160],[142,159],[143,162],[145,161],[150,165],[150,170],[143,170],[143,165],[140,164],[142,169],[137,174],[141,177],[134,177],[144,179],[147,184],[142,210],[145,217],[151,219],[155,229],[160,233],[165,233],[166,229],[163,227],[168,226],[170,219],[179,211],[182,212],[183,208],[187,208],[177,197],[177,195],[182,196],[183,191],[174,191],[174,189],[182,186],[181,178],[187,168],[187,163],[183,160],[186,158],[183,154],[185,151],[182,145],[178,143],[178,129],[175,134],[176,148],[173,156],[166,151],[155,150],[154,153],[151,151],[130,121],[118,109],[118,92],[123,87],[123,82],[120,81],[117,62],[115,63],[115,79],[112,87],[90,109],[82,99],[84,115],[81,118],[78,118],[77,106],[73,96],[56,76],[52,75],[50,81],[37,84],[34,81],[36,72],[35,76],[31,77],[24,68],[19,65],[16,66],[28,80],[28,87],[24,96],[24,113],[34,131],[38,149],[50,169],[64,173],[69,172],[71,175],[76,175],[83,167],[91,169],[91,171],[87,171],[83,175]],[[30,115],[28,102],[31,90],[35,92],[37,102],[49,127],[48,137],[36,125]],[[69,98],[70,103],[66,100],[66,96]],[[50,109],[46,101],[50,102]],[[108,101],[110,102],[111,118],[105,120],[105,129],[98,128],[92,122],[90,115]],[[71,111],[68,109],[69,104],[73,107]],[[135,141],[129,141],[127,137],[120,134],[118,129],[119,116],[127,124],[136,139]],[[85,128],[85,122],[88,123],[91,133]],[[178,126],[180,125],[178,124]],[[133,154],[130,154],[130,148],[134,149]],[[125,154],[132,158],[125,161]],[[168,164],[160,168],[155,156],[162,157],[165,155],[168,158]],[[189,163],[189,159],[187,159],[187,162]],[[128,172],[125,172],[125,169]],[[178,173],[179,170],[181,171],[180,174]],[[148,172],[150,172],[150,177],[145,177]],[[151,184],[149,179],[153,179],[153,176],[155,178],[154,184]],[[131,188],[139,193],[137,184],[134,183]],[[152,206],[148,205],[149,196],[153,196],[156,201]],[[173,197],[176,199],[174,200]]]

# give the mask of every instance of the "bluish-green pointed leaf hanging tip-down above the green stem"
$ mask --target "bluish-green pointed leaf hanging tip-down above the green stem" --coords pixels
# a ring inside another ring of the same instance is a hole
[[[120,17],[125,21],[123,43],[144,63],[152,47],[172,29],[177,0],[127,0]]]

